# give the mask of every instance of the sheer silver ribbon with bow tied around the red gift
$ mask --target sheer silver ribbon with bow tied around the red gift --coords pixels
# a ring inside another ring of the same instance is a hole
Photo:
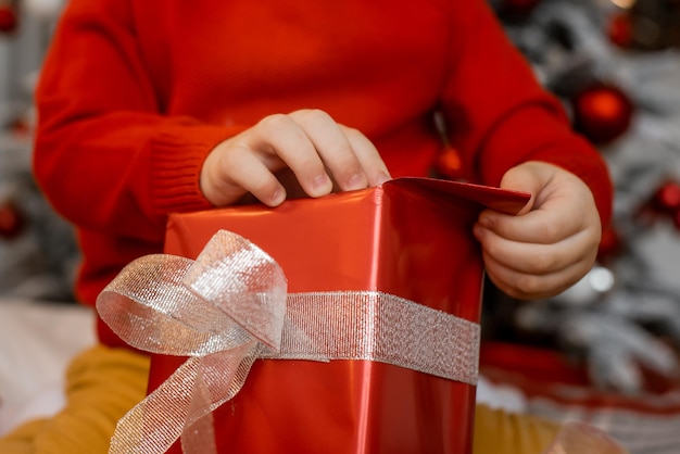
[[[278,264],[219,230],[196,261],[148,255],[97,300],[130,345],[191,356],[125,415],[110,453],[215,453],[212,412],[257,358],[368,360],[475,384],[477,324],[379,291],[286,292]]]

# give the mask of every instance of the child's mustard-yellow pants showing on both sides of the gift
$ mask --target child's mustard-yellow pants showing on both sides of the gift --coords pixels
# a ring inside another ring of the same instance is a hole
[[[66,407],[0,439],[2,454],[106,453],[116,421],[144,398],[149,358],[125,349],[95,346],[66,373]],[[475,454],[540,454],[558,427],[531,416],[478,405]]]

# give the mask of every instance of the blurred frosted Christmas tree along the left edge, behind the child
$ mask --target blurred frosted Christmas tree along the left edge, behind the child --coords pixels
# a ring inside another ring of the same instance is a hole
[[[71,226],[30,169],[33,89],[61,1],[0,0],[0,295],[73,301]]]

